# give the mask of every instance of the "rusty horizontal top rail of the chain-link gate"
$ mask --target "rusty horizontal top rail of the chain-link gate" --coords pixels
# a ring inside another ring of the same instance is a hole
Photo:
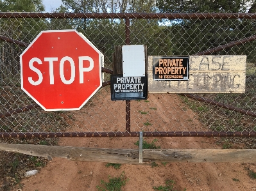
[[[256,13],[25,13],[1,12],[0,18],[48,19],[256,19]]]

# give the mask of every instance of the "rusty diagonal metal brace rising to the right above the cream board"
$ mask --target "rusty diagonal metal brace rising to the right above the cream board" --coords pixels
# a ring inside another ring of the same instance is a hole
[[[253,36],[251,36],[249,38],[244,38],[242,40],[237,40],[235,42],[227,43],[226,45],[221,45],[221,46],[213,48],[213,49],[205,50],[203,52],[198,52],[198,53],[196,53],[194,55],[197,55],[197,56],[209,55],[209,54],[212,54],[214,52],[219,52],[219,51],[224,50],[224,49],[228,49],[228,48],[230,49],[230,48],[232,48],[232,47],[234,47],[236,45],[242,45],[242,44],[244,44],[246,42],[251,42],[253,40],[256,40],[256,35],[253,35]]]

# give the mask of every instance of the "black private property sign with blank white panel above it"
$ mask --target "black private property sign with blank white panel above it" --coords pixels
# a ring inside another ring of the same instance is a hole
[[[111,75],[111,100],[146,100],[148,75],[144,45],[122,46],[123,74]]]

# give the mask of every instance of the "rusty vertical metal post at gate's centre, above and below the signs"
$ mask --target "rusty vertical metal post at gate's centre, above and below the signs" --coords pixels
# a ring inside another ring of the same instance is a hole
[[[130,19],[125,18],[125,43],[130,44]],[[131,101],[125,101],[125,130],[131,132]]]

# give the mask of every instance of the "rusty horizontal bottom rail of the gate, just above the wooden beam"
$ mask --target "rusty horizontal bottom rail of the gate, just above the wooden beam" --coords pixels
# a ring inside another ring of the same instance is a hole
[[[140,132],[0,133],[1,138],[139,137]],[[256,137],[256,132],[143,132],[144,137]]]

